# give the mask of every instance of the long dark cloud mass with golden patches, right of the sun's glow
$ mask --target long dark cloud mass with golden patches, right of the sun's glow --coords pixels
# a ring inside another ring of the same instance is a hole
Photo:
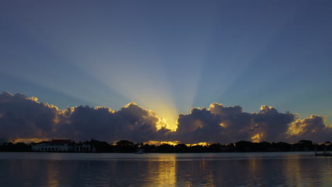
[[[180,114],[173,138],[184,143],[227,143],[239,140],[297,142],[310,138],[325,141],[328,140],[328,135],[332,135],[331,128],[323,124],[323,120],[297,118],[298,114],[280,113],[272,106],[262,106],[259,113],[245,113],[240,106],[226,107],[220,103],[212,103],[208,109],[193,108],[187,115]],[[302,130],[297,135],[290,135],[291,128]],[[312,130],[308,131],[309,129]],[[324,140],[314,138],[314,132],[319,134],[323,130],[326,130]]]

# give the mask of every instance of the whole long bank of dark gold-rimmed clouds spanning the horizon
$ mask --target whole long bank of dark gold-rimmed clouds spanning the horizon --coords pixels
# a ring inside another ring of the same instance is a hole
[[[165,120],[153,111],[128,103],[119,111],[107,107],[76,106],[60,110],[38,98],[23,94],[0,94],[0,136],[13,139],[95,138],[114,142],[180,141],[197,142],[314,142],[331,141],[332,128],[325,118],[311,115],[299,119],[296,113],[280,113],[262,106],[258,113],[246,113],[240,106],[212,103],[209,108],[192,108],[179,114],[177,130],[167,129]]]

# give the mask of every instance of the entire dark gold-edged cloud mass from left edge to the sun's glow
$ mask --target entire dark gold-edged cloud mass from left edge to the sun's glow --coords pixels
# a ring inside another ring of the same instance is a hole
[[[1,135],[11,138],[97,138],[114,142],[148,142],[165,137],[170,130],[153,111],[135,103],[119,111],[107,107],[77,106],[59,110],[38,98],[23,94],[0,94]]]

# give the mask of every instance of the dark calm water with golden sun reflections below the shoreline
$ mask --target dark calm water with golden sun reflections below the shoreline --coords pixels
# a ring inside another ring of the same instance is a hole
[[[331,186],[312,152],[0,153],[0,186]]]

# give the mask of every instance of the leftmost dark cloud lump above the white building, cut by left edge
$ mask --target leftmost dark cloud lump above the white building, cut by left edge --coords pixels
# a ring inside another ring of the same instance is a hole
[[[50,135],[60,117],[57,107],[23,94],[0,94],[1,135],[33,138]]]

